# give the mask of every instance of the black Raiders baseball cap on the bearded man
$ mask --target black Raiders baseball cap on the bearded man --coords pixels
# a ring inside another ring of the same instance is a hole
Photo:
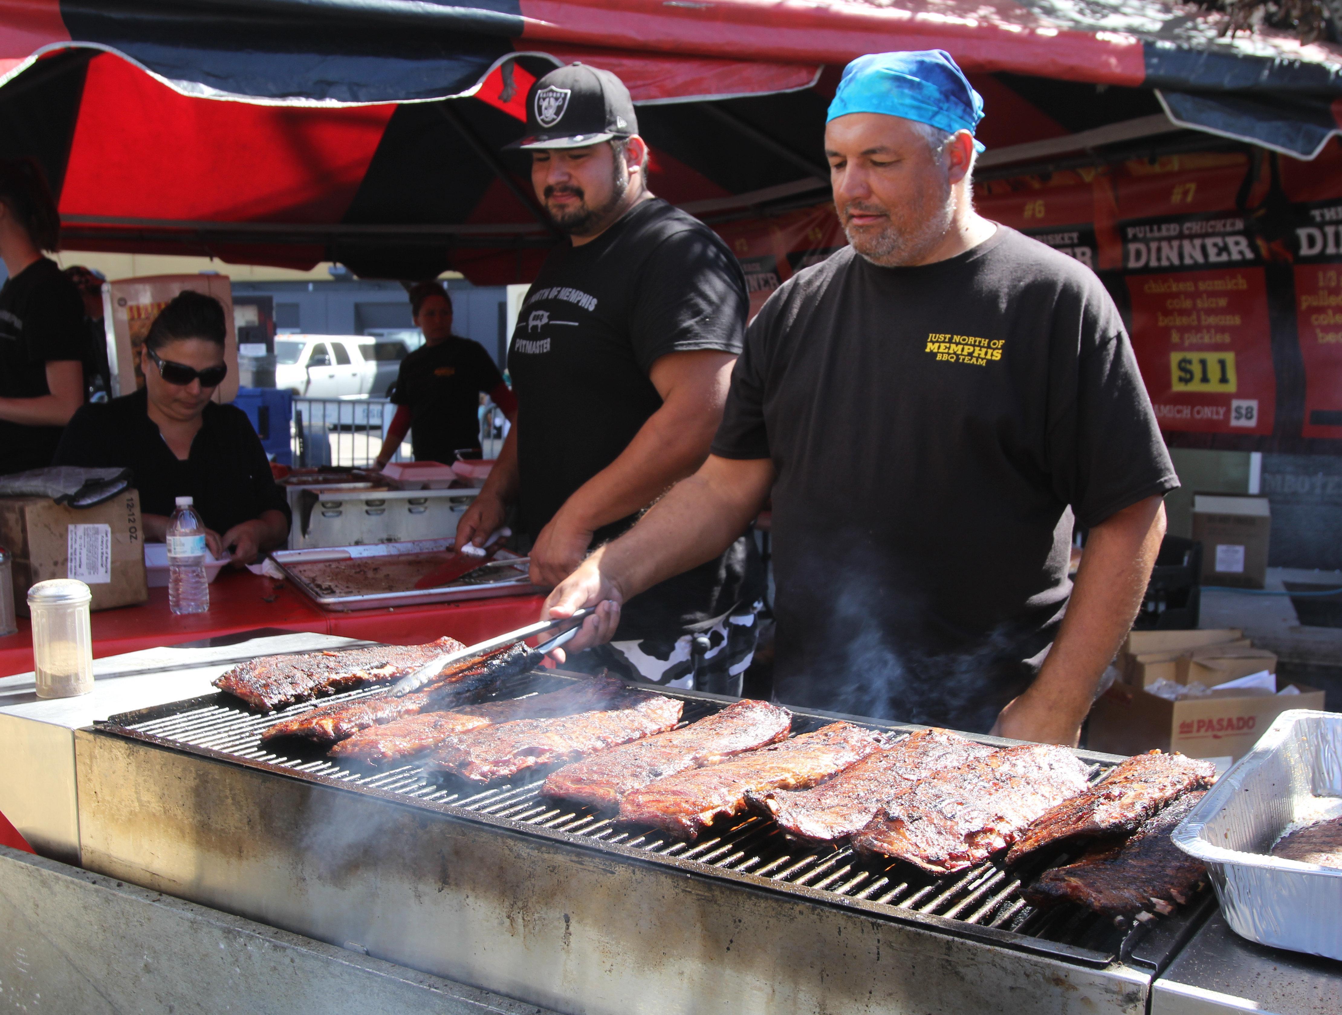
[[[509,147],[584,147],[639,133],[633,99],[611,71],[570,63],[526,94],[526,137]]]

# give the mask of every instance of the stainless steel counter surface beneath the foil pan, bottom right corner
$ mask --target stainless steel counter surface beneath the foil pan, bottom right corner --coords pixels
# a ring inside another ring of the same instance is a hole
[[[1337,1015],[1342,1012],[1342,963],[1253,944],[1216,913],[1155,981],[1150,1015],[1241,1011]]]

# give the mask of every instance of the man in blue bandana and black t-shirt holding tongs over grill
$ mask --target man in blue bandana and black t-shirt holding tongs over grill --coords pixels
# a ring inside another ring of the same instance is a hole
[[[778,701],[1076,743],[1178,480],[1099,279],[974,212],[982,115],[939,50],[847,67],[849,247],[750,324],[705,465],[554,590],[597,606],[573,649],[772,493]]]

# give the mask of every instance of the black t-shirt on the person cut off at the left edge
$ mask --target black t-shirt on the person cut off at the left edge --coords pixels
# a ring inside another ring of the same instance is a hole
[[[0,398],[40,398],[47,363],[83,362],[89,330],[83,298],[56,263],[42,257],[0,288]],[[0,475],[51,464],[60,426],[24,426],[0,420]]]

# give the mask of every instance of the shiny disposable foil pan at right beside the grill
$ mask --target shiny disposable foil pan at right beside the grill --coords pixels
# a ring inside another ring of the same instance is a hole
[[[1342,870],[1270,850],[1342,799],[1342,715],[1283,712],[1174,829],[1206,863],[1231,928],[1251,941],[1342,959]]]

